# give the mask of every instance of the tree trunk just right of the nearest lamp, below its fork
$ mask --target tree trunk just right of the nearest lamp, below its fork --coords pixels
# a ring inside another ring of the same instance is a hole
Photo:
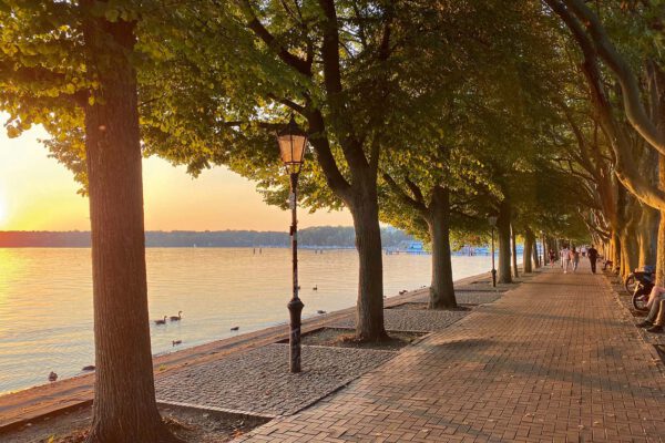
[[[356,229],[356,248],[360,262],[356,337],[361,341],[388,338],[383,328],[383,261],[376,179],[359,186],[350,205]]]

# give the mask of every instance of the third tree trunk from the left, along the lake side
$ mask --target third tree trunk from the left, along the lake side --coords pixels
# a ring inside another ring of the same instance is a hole
[[[432,240],[432,281],[429,308],[456,308],[457,299],[450,259],[450,192],[447,188],[437,186],[432,190],[427,225]]]

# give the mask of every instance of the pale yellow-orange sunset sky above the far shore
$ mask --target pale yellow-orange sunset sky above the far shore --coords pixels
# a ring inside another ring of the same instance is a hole
[[[38,142],[47,137],[35,128],[10,140],[0,128],[0,230],[90,229],[88,199],[76,194],[72,174],[48,157]],[[146,229],[288,229],[286,212],[267,206],[254,183],[225,168],[193,179],[184,167],[149,158],[143,174]],[[352,223],[347,212],[298,215],[300,227]]]

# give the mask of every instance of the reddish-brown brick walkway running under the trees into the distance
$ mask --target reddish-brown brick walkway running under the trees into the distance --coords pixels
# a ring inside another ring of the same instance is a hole
[[[603,276],[548,269],[236,442],[663,442],[665,377]]]

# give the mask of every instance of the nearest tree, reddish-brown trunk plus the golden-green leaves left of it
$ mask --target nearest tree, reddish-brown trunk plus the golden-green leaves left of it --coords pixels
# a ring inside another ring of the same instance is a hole
[[[133,63],[137,30],[150,28],[142,12],[120,1],[0,1],[9,134],[43,124],[59,148],[59,137],[83,136],[61,154],[84,158],[90,199],[96,377],[89,442],[175,440],[155,403],[147,316]]]

